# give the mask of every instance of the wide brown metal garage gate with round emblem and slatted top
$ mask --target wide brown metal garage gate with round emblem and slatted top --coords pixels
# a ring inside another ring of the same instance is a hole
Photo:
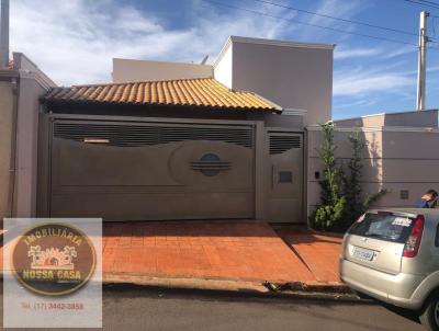
[[[54,119],[52,217],[252,218],[251,125]]]

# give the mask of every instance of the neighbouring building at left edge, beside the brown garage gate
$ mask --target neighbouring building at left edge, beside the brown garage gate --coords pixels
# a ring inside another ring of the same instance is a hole
[[[20,53],[0,70],[0,219],[36,214],[38,99],[50,87]]]

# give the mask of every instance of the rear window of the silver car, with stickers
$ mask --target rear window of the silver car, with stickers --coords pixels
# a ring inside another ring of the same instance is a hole
[[[413,221],[407,216],[368,213],[350,227],[348,233],[404,243]]]

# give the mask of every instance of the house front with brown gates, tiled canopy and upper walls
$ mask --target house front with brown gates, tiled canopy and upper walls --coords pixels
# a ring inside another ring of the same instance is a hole
[[[115,59],[113,83],[54,89],[38,215],[303,221],[333,48],[230,37],[213,66]]]

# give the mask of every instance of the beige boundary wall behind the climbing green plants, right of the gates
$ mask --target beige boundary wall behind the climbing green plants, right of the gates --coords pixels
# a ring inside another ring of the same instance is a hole
[[[348,142],[349,128],[336,132],[337,156],[345,164],[350,158]],[[429,189],[439,190],[439,130],[421,127],[363,128],[363,137],[369,141],[363,153],[362,186],[364,193],[376,193],[381,189],[391,190],[378,206],[404,207],[414,202]],[[320,132],[308,132],[307,205],[308,215],[319,199],[319,185],[315,172],[322,173],[317,148]],[[408,199],[401,197],[407,190]]]

